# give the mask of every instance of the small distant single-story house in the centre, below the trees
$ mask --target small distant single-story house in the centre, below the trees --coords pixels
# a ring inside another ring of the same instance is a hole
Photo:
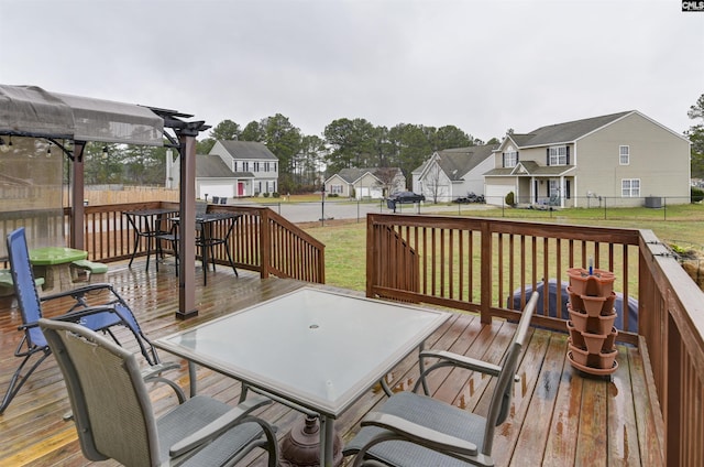
[[[381,199],[406,189],[406,176],[398,167],[342,169],[324,185],[328,195]]]

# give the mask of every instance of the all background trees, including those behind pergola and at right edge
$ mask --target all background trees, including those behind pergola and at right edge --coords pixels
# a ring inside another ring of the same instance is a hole
[[[684,132],[692,141],[692,176],[704,177],[704,94],[688,116],[698,122]],[[363,118],[333,120],[321,138],[304,134],[280,113],[244,128],[223,120],[197,142],[197,152],[208,154],[217,140],[264,143],[279,161],[279,191],[288,193],[319,189],[321,177],[345,167],[399,167],[410,181],[410,173],[435,151],[499,143],[497,138],[484,142],[452,124],[398,123],[387,128]],[[85,158],[86,183],[164,184],[165,148],[91,143]]]

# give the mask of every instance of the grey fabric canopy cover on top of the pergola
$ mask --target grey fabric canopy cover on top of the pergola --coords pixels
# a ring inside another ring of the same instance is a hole
[[[0,134],[163,145],[164,119],[132,104],[0,85]]]

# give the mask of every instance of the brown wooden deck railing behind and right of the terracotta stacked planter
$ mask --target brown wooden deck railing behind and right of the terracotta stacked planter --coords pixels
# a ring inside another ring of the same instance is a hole
[[[367,296],[479,312],[485,323],[516,319],[526,291],[566,281],[569,268],[613,271],[624,304],[638,300],[637,323],[624,313],[618,336],[650,357],[644,391],[660,404],[642,410],[662,414],[662,465],[704,465],[704,293],[650,230],[370,214],[366,254]],[[534,322],[564,332],[549,294],[541,305]]]

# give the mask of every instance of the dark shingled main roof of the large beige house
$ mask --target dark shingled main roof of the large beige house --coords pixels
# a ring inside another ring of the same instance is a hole
[[[568,121],[565,123],[549,124],[547,127],[540,127],[529,133],[508,134],[507,138],[514,141],[519,148],[566,143],[579,140],[580,138],[634,112],[635,110],[629,110],[607,116]]]

